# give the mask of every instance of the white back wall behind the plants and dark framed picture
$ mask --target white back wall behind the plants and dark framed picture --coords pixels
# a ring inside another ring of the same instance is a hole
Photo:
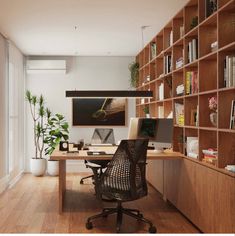
[[[39,59],[42,57],[31,57]],[[52,59],[53,57],[46,57]],[[64,59],[64,58],[61,58]],[[133,57],[66,57],[68,73],[66,75],[34,74],[27,75],[26,89],[32,93],[44,95],[47,106],[54,113],[65,115],[70,124],[70,141],[84,138],[90,142],[94,128],[72,127],[72,100],[65,97],[66,90],[121,90],[129,89],[128,65]],[[27,107],[28,108],[28,107]],[[135,100],[128,100],[128,119],[135,115]],[[26,122],[26,171],[29,171],[29,159],[33,156],[32,121],[27,109]],[[128,126],[114,128],[116,141],[127,137]],[[78,168],[79,165],[79,168]],[[71,171],[87,171],[83,162],[69,164]]]

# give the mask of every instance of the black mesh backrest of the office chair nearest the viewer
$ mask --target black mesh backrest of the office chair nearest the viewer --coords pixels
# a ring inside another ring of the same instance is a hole
[[[101,176],[101,192],[117,200],[147,195],[145,179],[147,139],[122,140]]]

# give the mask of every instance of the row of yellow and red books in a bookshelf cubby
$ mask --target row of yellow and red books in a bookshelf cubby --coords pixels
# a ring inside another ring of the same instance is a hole
[[[198,72],[197,71],[186,72],[185,93],[187,95],[198,93]]]

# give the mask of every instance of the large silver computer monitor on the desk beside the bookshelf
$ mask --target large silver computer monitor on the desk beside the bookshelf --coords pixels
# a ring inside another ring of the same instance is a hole
[[[131,118],[129,139],[148,138],[155,150],[172,147],[173,119]]]

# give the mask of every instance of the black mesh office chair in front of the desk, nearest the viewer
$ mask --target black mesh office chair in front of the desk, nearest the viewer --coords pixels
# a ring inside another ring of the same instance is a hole
[[[116,231],[120,232],[122,215],[134,217],[149,224],[149,232],[156,233],[156,227],[145,219],[139,210],[126,209],[122,202],[134,201],[147,195],[145,179],[146,152],[148,140],[122,140],[105,172],[100,176],[97,168],[92,168],[95,176],[95,190],[98,198],[104,196],[117,202],[116,208],[104,208],[102,213],[87,219],[86,228],[92,229],[92,220],[117,213]]]

